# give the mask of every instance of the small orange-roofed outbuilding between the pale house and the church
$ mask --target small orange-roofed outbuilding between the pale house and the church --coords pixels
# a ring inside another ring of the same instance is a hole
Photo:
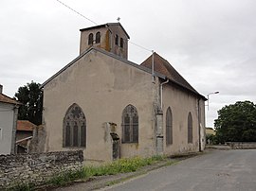
[[[16,153],[27,153],[28,143],[33,137],[36,125],[27,120],[17,121]]]

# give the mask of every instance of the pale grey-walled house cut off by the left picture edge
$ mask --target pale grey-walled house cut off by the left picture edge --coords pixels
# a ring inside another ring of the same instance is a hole
[[[15,133],[20,103],[3,94],[0,85],[0,154],[15,153]]]

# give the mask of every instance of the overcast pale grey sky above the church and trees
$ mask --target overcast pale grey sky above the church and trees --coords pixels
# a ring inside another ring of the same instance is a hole
[[[236,101],[256,103],[255,0],[1,0],[0,84],[14,96],[79,56],[79,29],[115,23],[130,36],[128,60],[149,50],[169,61],[201,95],[206,125]],[[84,18],[86,17],[86,18]],[[144,47],[138,47],[134,43]],[[208,103],[206,102],[206,105]]]

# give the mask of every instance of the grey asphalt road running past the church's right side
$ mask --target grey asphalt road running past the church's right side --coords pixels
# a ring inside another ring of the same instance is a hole
[[[213,150],[101,190],[256,191],[256,150]]]

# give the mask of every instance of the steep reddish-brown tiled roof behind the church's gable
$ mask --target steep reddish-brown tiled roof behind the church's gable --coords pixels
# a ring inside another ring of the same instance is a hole
[[[152,55],[140,65],[152,69]],[[183,78],[168,61],[163,59],[157,53],[154,53],[154,70],[166,76],[177,85],[182,86],[196,95],[199,95],[199,93],[192,88],[192,85],[185,78]]]

